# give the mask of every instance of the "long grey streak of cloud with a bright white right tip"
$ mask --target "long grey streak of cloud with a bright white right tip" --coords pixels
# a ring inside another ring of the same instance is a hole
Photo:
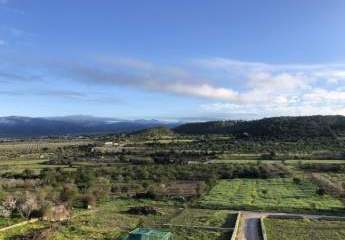
[[[114,61],[112,63],[114,63]],[[123,63],[124,62],[121,62],[121,65]],[[137,66],[137,64],[135,65]],[[156,67],[152,67],[150,71],[146,71],[147,68],[142,68],[142,65],[140,65],[129,72],[123,72],[121,71],[122,69],[119,71],[117,67],[118,62],[116,62],[115,70],[72,66],[70,67],[70,73],[76,78],[81,79],[81,81],[88,80],[94,84],[127,86],[150,91],[224,101],[239,100],[236,91],[196,80],[192,75],[183,70],[175,68],[157,69]],[[127,67],[133,67],[132,62],[128,63]]]

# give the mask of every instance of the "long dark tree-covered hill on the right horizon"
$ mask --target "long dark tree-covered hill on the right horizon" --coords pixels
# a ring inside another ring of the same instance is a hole
[[[187,123],[174,129],[180,134],[231,134],[240,138],[298,139],[345,136],[345,117],[273,117],[252,121]]]

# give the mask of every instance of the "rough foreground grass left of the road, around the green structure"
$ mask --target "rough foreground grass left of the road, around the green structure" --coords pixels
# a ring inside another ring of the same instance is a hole
[[[145,216],[127,213],[133,206],[156,206],[161,214]],[[235,221],[236,213],[227,210],[182,209],[175,206],[174,202],[119,199],[103,203],[92,210],[76,212],[69,222],[55,224],[47,239],[121,239],[132,229],[143,226],[169,230],[177,240],[220,240],[229,239]],[[207,227],[229,230],[212,230]],[[48,224],[44,222],[29,224],[1,233],[0,239],[12,240],[37,229],[47,228]]]

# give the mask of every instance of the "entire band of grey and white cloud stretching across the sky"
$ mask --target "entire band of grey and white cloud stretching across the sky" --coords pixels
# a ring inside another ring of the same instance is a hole
[[[345,115],[345,64],[269,64],[207,58],[163,65],[98,57],[83,63],[49,62],[40,68],[46,74],[44,79],[53,76],[86,83],[90,88],[124,87],[196,98],[202,102],[199,111],[206,115]],[[20,79],[17,74],[0,71],[2,81],[10,76],[14,76],[13,81]],[[48,95],[53,93],[47,91]]]

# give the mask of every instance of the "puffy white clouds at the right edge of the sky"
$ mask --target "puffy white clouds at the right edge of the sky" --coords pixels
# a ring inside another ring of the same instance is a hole
[[[345,64],[275,65],[222,58],[196,62],[242,80],[238,92],[241,101],[202,105],[205,112],[255,116],[345,114]]]

